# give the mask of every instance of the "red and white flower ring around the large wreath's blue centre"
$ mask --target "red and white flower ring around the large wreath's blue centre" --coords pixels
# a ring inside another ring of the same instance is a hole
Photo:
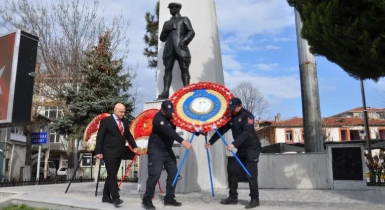
[[[204,82],[204,81],[201,81],[198,83],[188,84],[188,85],[184,86],[183,88],[180,88],[179,90],[174,92],[174,94],[172,94],[172,96],[170,97],[170,100],[174,104],[174,107],[186,93],[197,90],[197,89],[213,90],[213,91],[219,93],[218,96],[220,96],[221,98],[224,98],[223,99],[224,101],[221,101],[222,104],[226,103],[226,107],[223,107],[224,109],[226,109],[224,111],[223,116],[220,117],[219,119],[211,121],[211,122],[206,122],[206,123],[202,123],[202,124],[194,124],[194,122],[184,120],[180,116],[183,113],[179,113],[179,112],[181,112],[181,110],[178,110],[178,108],[174,108],[174,115],[173,115],[171,121],[176,126],[180,127],[181,129],[187,130],[190,132],[197,132],[197,131],[208,132],[208,131],[211,131],[213,129],[217,129],[217,128],[225,125],[231,118],[230,117],[230,111],[227,110],[227,106],[229,105],[230,99],[233,98],[234,95],[233,95],[233,93],[231,93],[231,91],[228,88],[226,88],[222,84],[218,84],[215,82]]]

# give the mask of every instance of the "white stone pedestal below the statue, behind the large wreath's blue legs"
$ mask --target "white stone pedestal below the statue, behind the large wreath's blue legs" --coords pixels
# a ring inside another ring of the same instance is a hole
[[[160,109],[162,100],[150,101],[144,103],[144,110],[150,108]],[[184,139],[189,140],[191,135],[190,132],[176,128],[176,131]],[[208,139],[213,135],[214,131],[209,132]],[[226,135],[225,135],[226,137]],[[178,180],[175,188],[176,193],[189,193],[201,190],[211,189],[210,184],[210,173],[207,159],[207,153],[205,149],[205,136],[195,136],[193,142],[193,148],[188,151],[187,157],[184,161],[183,167],[180,171],[182,177]],[[175,156],[177,166],[179,167],[180,162],[183,158],[185,148],[178,142],[174,142],[172,147]],[[218,140],[210,148],[210,160],[211,168],[213,173],[213,183],[215,188],[227,188],[227,159],[226,159],[226,146]],[[146,180],[147,180],[147,155],[140,155],[139,158],[139,172],[138,172],[138,191],[145,191]],[[159,182],[162,190],[166,190],[166,178],[167,172],[162,171]],[[155,191],[159,192],[159,187],[155,187]]]

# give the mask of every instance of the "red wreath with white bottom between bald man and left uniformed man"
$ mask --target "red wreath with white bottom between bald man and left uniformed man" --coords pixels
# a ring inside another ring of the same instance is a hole
[[[138,146],[138,154],[146,154],[148,146],[148,138],[152,131],[152,119],[159,109],[151,108],[142,111],[132,120],[130,124],[130,132],[135,139],[136,145]],[[130,149],[132,147],[128,144]]]

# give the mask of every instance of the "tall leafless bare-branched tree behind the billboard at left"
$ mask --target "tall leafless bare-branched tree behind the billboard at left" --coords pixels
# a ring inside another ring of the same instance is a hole
[[[39,114],[37,109],[47,105],[60,106],[66,114],[67,105],[59,95],[81,82],[79,69],[84,50],[95,43],[98,35],[110,29],[111,49],[118,52],[114,55],[120,58],[127,56],[128,48],[121,48],[128,44],[125,36],[128,25],[123,16],[115,16],[107,24],[103,17],[98,17],[98,6],[99,0],[93,1],[92,6],[80,4],[79,0],[54,0],[50,4],[42,4],[40,0],[6,0],[0,6],[1,27],[8,30],[19,28],[39,37],[33,99],[35,111],[31,124],[24,126],[27,136],[26,171],[30,171],[31,167],[30,133],[42,126],[41,123],[35,124]]]

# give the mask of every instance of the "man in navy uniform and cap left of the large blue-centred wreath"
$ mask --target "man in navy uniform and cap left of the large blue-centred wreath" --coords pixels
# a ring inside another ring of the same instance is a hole
[[[164,205],[181,206],[182,203],[175,200],[175,186],[172,181],[177,172],[176,158],[172,151],[174,140],[186,148],[190,148],[189,141],[180,137],[175,129],[176,126],[171,122],[174,106],[170,100],[164,100],[161,109],[152,119],[152,131],[148,139],[148,177],[146,182],[146,192],[143,195],[142,207],[145,209],[155,209],[152,204],[152,197],[155,194],[155,186],[159,180],[162,168],[167,171],[166,196]]]

